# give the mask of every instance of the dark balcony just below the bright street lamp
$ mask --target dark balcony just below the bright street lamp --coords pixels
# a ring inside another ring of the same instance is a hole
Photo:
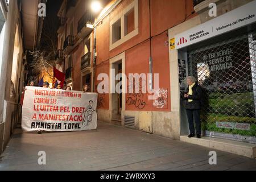
[[[77,32],[78,37],[84,39],[93,31],[94,17],[90,11],[86,11],[82,18],[78,22]]]

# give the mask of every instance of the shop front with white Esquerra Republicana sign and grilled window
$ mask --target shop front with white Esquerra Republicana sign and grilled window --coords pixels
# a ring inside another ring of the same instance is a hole
[[[256,144],[256,1],[175,36],[180,130],[188,134],[185,77],[204,90],[201,122],[207,137]]]

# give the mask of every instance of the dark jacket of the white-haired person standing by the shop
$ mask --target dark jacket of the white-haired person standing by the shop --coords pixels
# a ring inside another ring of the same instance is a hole
[[[201,109],[201,99],[203,96],[203,89],[197,83],[192,87],[193,94],[188,96],[185,100],[185,109]],[[187,93],[189,88],[187,88]],[[188,100],[193,100],[188,102]]]

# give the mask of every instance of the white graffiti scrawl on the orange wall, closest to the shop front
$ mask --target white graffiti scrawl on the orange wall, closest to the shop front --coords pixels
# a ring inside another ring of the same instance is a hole
[[[156,99],[153,101],[153,106],[157,109],[163,109],[168,104],[168,90],[160,88],[158,90],[154,90],[154,94]]]

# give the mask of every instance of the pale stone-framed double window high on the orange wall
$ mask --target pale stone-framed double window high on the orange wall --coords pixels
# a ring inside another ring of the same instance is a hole
[[[138,34],[138,0],[134,0],[110,21],[110,50]]]

